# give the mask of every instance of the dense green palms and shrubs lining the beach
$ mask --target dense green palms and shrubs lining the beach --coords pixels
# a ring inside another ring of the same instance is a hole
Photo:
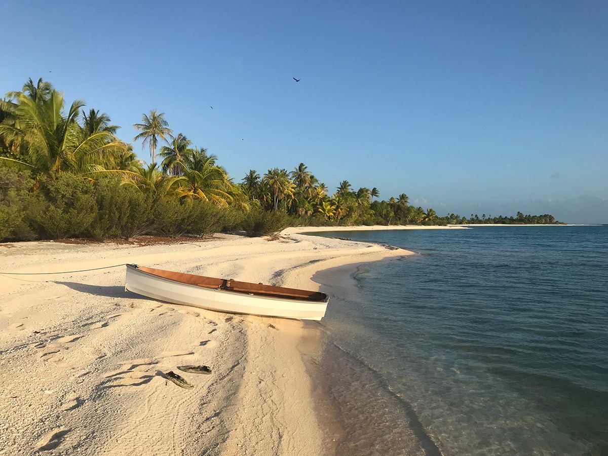
[[[50,83],[27,81],[0,100],[0,240],[209,235],[289,225],[555,223],[551,215],[470,219],[413,207],[405,193],[380,201],[378,188],[328,188],[300,163],[292,171],[250,170],[236,183],[218,158],[174,133],[164,114],[134,124],[151,164],[116,137],[98,110],[69,105]],[[159,162],[156,161],[157,155]]]

